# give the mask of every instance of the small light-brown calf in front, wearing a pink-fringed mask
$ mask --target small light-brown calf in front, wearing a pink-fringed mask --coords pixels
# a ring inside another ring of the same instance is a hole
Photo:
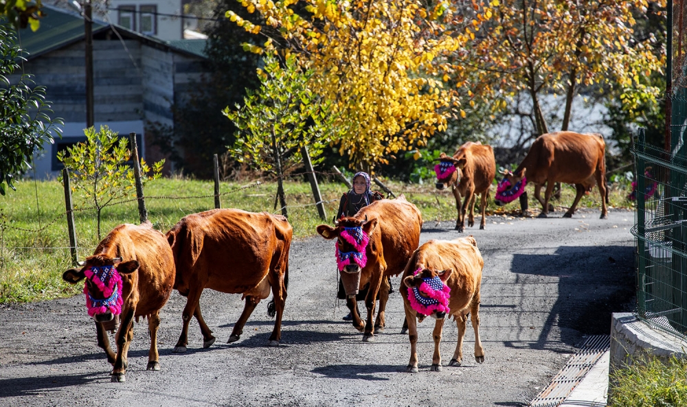
[[[463,358],[463,336],[467,315],[475,329],[475,360],[484,362],[480,340],[480,285],[484,260],[472,236],[455,240],[430,240],[418,248],[408,261],[401,278],[401,295],[405,306],[410,339],[410,362],[407,371],[418,371],[418,321],[427,316],[434,323],[434,355],[431,371],[441,371],[441,341],[444,318],[453,315],[458,325],[458,343],[449,365],[458,365]],[[416,319],[417,318],[417,319]]]

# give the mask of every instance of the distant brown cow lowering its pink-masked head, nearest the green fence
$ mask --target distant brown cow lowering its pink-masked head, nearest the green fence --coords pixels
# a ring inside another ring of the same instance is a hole
[[[608,190],[606,185],[606,144],[598,133],[580,134],[570,131],[541,135],[514,172],[504,172],[495,196],[496,205],[504,205],[522,194],[528,181],[534,183],[534,198],[541,203],[539,218],[546,218],[554,183],[574,184],[574,202],[563,218],[572,218],[578,202],[598,186],[601,196],[601,219],[607,218]],[[544,199],[542,185],[546,184]]]

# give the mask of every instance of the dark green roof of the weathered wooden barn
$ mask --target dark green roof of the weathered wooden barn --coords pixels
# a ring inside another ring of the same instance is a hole
[[[31,60],[49,51],[60,49],[85,39],[84,20],[79,14],[44,5],[45,16],[41,19],[41,27],[32,32],[21,30],[19,32],[19,45]],[[140,40],[148,45],[161,49],[177,51],[181,54],[207,58],[205,55],[205,40],[174,40],[164,41],[159,38],[146,36],[135,31],[128,30],[120,25],[114,25],[93,19],[93,35],[116,27],[117,32],[128,38]]]

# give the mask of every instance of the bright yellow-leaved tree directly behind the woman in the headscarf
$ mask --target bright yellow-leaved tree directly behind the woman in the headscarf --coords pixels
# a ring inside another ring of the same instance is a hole
[[[459,12],[448,1],[243,0],[249,12],[278,33],[233,12],[227,17],[248,32],[263,34],[313,71],[311,86],[333,103],[339,152],[371,170],[398,151],[424,146],[446,128],[449,115],[465,115],[455,88],[451,56],[491,14],[477,7]],[[473,27],[469,29],[468,26]]]

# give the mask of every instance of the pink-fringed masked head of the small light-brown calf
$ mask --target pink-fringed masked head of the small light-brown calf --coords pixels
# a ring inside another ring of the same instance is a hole
[[[446,285],[453,270],[432,270],[419,266],[412,276],[403,279],[403,283],[409,288],[408,301],[410,306],[418,313],[418,318],[431,316],[443,319],[449,312],[449,294],[451,288]]]

